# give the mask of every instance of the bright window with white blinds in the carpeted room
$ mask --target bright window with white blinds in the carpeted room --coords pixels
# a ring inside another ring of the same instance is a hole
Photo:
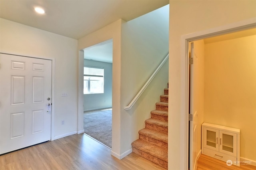
[[[84,66],[84,94],[104,93],[104,68]]]

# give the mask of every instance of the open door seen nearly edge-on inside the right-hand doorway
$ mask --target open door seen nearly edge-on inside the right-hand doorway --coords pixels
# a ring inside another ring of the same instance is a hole
[[[191,42],[191,52],[190,58],[193,59],[193,64],[190,64],[190,114],[193,120],[190,121],[190,170],[197,169],[197,106],[198,102],[198,67],[197,67],[197,57],[194,53],[194,43]]]

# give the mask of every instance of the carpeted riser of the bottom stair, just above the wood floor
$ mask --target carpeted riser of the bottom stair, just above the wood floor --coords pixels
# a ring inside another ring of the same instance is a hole
[[[165,160],[161,160],[161,159],[159,159],[155,156],[152,156],[152,155],[150,155],[146,152],[143,152],[143,151],[141,151],[137,148],[134,148],[134,147],[132,147],[132,152],[134,152],[135,154],[137,154],[137,155],[139,155],[139,156],[141,156],[141,157],[143,157],[147,160],[150,160],[151,162],[154,162],[155,164],[158,164],[158,165],[162,166],[165,169],[168,169],[168,162],[165,161]]]

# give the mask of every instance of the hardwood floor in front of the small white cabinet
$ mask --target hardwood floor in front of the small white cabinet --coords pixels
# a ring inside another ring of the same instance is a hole
[[[226,162],[201,154],[198,159],[197,170],[256,170],[253,165],[231,165],[227,166]]]

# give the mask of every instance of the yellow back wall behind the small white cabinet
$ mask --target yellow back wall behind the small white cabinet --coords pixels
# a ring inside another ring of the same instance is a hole
[[[256,35],[205,44],[204,122],[240,129],[240,157],[256,160]]]

